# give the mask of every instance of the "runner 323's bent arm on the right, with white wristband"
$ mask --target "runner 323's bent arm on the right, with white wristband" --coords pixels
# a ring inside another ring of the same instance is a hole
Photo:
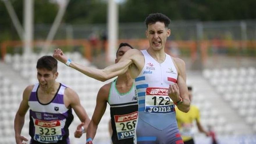
[[[74,109],[75,113],[77,114],[78,118],[81,121],[81,124],[77,126],[77,129],[74,133],[74,136],[76,138],[80,138],[82,136],[82,134],[87,131],[87,127],[90,123],[90,118],[87,115],[83,106],[81,105],[79,96],[77,95],[77,93],[74,90],[72,90],[71,88],[66,88],[65,96],[67,97],[68,101],[70,102],[70,106]]]

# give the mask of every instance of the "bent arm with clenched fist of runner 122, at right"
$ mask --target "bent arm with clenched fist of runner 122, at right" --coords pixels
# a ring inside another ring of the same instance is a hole
[[[177,103],[180,111],[187,113],[190,109],[189,92],[186,84],[186,66],[185,62],[180,58],[173,58],[178,70],[177,83],[170,85],[169,96],[173,102]],[[179,102],[183,99],[183,102]]]

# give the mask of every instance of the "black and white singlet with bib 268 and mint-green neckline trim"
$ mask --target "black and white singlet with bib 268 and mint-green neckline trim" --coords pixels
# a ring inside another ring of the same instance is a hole
[[[112,142],[118,144],[133,143],[134,129],[138,116],[138,103],[134,85],[127,93],[119,93],[116,79],[109,90]]]

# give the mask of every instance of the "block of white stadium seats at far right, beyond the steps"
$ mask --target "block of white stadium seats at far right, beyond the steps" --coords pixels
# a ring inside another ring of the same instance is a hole
[[[256,132],[256,69],[206,69],[203,76]]]

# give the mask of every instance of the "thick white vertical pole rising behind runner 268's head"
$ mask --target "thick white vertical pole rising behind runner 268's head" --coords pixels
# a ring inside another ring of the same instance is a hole
[[[108,3],[108,51],[107,61],[113,62],[115,60],[115,50],[118,40],[118,4],[115,0],[109,0]]]

